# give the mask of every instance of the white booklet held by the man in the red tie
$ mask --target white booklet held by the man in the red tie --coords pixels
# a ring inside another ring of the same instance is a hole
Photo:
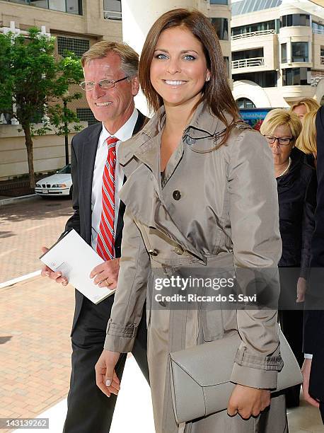
[[[62,272],[69,283],[94,304],[99,304],[115,293],[115,290],[108,287],[98,287],[90,278],[93,267],[100,265],[104,260],[74,229],[55,243],[40,260],[54,272]]]

